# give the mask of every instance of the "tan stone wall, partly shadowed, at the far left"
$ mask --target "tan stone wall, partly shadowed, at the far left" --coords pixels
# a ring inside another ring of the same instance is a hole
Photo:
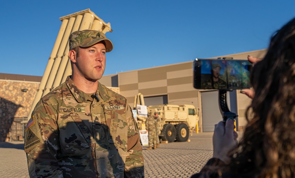
[[[23,139],[23,126],[19,122],[31,115],[30,107],[39,84],[0,79],[0,141]],[[22,92],[22,89],[27,89],[27,92]]]

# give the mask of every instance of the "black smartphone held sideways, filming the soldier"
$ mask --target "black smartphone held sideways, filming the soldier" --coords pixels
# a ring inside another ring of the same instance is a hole
[[[248,60],[196,59],[194,61],[194,88],[245,89],[250,88],[252,63]]]

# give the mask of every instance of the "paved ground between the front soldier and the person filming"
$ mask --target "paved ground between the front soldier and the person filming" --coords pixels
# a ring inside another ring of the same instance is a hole
[[[199,172],[212,157],[212,135],[193,133],[190,142],[161,143],[155,150],[143,150],[145,177],[190,177]]]

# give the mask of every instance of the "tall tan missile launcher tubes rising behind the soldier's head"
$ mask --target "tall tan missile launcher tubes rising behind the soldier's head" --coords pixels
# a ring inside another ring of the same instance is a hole
[[[99,30],[103,33],[112,32],[111,24],[104,22],[90,9],[76,12],[59,18],[62,21],[53,49],[45,68],[42,80],[32,104],[30,114],[42,96],[62,84],[68,75],[71,75],[69,53],[69,36],[77,30]],[[30,115],[28,119],[30,118]],[[27,123],[25,121],[24,123]]]

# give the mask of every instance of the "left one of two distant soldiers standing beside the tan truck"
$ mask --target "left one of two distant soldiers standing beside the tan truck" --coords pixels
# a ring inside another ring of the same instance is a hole
[[[145,127],[148,130],[148,148],[147,150],[152,149],[152,145],[154,144],[153,149],[156,149],[157,146],[157,138],[156,138],[156,123],[155,117],[151,116],[151,113],[148,113],[148,118],[145,121]]]

